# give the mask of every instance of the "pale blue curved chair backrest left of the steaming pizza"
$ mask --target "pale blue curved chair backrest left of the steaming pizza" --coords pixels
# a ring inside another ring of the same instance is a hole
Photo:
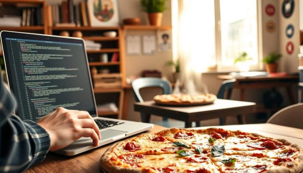
[[[168,80],[161,78],[138,78],[132,82],[132,90],[134,91],[135,100],[143,102],[139,90],[146,87],[159,87],[162,88],[162,94],[171,94],[172,87]]]

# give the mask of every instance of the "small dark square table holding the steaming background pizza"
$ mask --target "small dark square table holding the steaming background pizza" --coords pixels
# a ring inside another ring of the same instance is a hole
[[[185,121],[185,128],[191,127],[191,122],[202,121],[211,118],[226,117],[231,115],[248,114],[255,112],[256,103],[217,99],[213,104],[201,106],[161,106],[154,101],[135,103],[135,111],[153,114],[162,117]]]

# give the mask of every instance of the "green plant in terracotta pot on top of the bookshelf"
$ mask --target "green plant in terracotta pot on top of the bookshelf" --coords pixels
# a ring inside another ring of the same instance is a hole
[[[148,14],[150,25],[161,26],[163,12],[166,10],[166,0],[141,0],[144,12]]]

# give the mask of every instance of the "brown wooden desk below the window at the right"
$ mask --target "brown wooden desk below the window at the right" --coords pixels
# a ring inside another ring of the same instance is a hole
[[[228,80],[237,79],[234,88],[240,89],[240,100],[245,101],[245,92],[247,89],[263,89],[263,88],[277,88],[283,87],[286,89],[288,99],[291,105],[295,104],[295,98],[291,91],[291,86],[297,84],[299,81],[298,75],[286,75],[286,76],[254,76],[254,77],[242,77],[232,75],[218,75],[218,79]],[[285,106],[284,106],[285,107]],[[275,112],[284,107],[279,108],[264,108],[262,105],[257,105],[256,112]]]

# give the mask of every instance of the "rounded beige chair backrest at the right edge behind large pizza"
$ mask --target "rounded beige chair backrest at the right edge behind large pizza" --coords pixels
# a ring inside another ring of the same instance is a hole
[[[266,123],[303,129],[303,103],[290,105],[272,115]]]

